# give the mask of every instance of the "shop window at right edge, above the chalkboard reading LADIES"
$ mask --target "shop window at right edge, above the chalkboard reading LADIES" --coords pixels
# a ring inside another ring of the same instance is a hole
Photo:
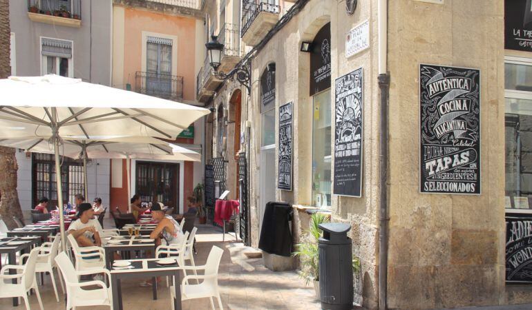
[[[507,56],[504,86],[505,207],[507,211],[531,210],[532,59]]]

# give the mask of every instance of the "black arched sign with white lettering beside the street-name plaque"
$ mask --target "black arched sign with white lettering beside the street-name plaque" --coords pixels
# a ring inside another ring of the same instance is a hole
[[[310,96],[331,87],[331,23],[319,30],[310,52]]]

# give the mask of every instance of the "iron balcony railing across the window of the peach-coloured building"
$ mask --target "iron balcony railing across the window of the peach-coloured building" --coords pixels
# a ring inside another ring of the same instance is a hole
[[[156,72],[136,72],[136,92],[162,99],[183,98],[183,77]]]

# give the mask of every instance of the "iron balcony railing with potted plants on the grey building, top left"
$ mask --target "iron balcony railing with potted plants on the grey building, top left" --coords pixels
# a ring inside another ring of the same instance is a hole
[[[28,0],[28,12],[82,19],[82,0]]]

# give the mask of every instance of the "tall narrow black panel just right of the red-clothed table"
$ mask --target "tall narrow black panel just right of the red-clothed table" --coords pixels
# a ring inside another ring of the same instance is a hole
[[[247,207],[247,161],[245,153],[238,154],[238,189],[240,193],[240,213],[237,216],[236,228],[240,239],[245,245],[249,242],[249,209]]]

